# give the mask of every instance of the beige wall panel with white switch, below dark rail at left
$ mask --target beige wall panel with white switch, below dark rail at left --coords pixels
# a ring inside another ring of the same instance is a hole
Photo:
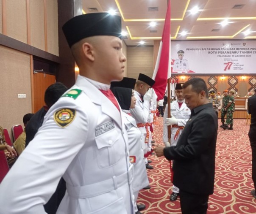
[[[0,65],[0,123],[11,133],[11,127],[22,124],[23,116],[32,112],[30,56],[0,46]],[[26,98],[18,98],[18,94],[26,94]]]

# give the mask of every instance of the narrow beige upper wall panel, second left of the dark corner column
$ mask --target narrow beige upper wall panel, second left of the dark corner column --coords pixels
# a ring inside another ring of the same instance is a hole
[[[44,1],[30,0],[31,45],[45,50]]]

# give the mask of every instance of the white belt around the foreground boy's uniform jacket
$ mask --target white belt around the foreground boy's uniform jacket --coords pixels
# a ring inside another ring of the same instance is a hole
[[[105,181],[100,181],[94,184],[84,186],[71,186],[66,183],[67,193],[73,198],[90,198],[97,195],[102,195],[106,192],[116,190],[123,184],[131,184],[133,180],[133,165],[130,165],[128,172],[122,173],[119,176],[113,176]]]

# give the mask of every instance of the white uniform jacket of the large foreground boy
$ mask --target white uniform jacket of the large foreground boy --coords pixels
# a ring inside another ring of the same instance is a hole
[[[67,192],[57,214],[134,214],[132,165],[121,113],[82,76],[72,89],[82,92],[75,99],[61,97],[50,108],[1,183],[0,214],[45,214],[43,204],[61,176]],[[63,119],[56,114],[61,109],[62,117],[70,118],[66,127],[55,121],[56,116]]]

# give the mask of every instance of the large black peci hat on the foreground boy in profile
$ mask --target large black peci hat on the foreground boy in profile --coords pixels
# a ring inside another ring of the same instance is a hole
[[[121,38],[121,17],[109,13],[84,14],[67,21],[62,30],[70,47],[90,36],[111,35]]]

